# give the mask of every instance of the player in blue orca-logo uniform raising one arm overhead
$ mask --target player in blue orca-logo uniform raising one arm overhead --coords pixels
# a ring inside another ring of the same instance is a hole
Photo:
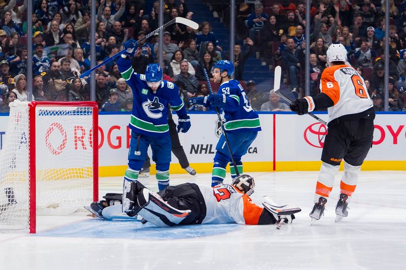
[[[162,81],[162,69],[159,64],[149,64],[144,74],[133,72],[131,59],[137,48],[137,42],[124,43],[124,53],[117,61],[118,69],[128,86],[132,89],[133,109],[129,128],[131,129],[128,168],[124,175],[124,190],[138,179],[144,165],[148,146],[152,148],[152,160],[156,164],[158,189],[169,185],[169,166],[171,163],[171,137],[168,126],[168,106],[178,114],[178,132],[187,132],[190,118],[185,104],[179,96],[178,87],[168,81]],[[123,194],[123,199],[126,197]],[[128,210],[129,202],[124,200],[123,211]]]

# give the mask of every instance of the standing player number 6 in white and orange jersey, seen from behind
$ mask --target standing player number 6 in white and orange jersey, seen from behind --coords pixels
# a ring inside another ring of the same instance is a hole
[[[344,159],[340,198],[335,207],[336,221],[348,216],[347,206],[354,193],[358,174],[372,146],[375,110],[364,80],[347,62],[342,44],[327,50],[327,64],[321,75],[320,94],[296,99],[290,108],[302,115],[328,108],[328,133],[321,156],[322,166],[316,184],[312,221],[323,215],[334,183],[334,175]]]

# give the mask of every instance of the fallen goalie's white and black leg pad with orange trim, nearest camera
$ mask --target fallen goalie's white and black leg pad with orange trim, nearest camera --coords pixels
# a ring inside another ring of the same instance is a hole
[[[139,201],[145,200],[146,202],[146,205],[140,209],[139,215],[158,227],[178,225],[191,212],[172,207],[148,188],[144,188],[139,197]]]

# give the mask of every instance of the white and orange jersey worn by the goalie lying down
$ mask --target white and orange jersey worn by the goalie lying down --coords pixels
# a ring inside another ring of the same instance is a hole
[[[263,208],[232,185],[221,184],[213,188],[199,185],[199,189],[206,203],[206,217],[202,224],[258,224]]]

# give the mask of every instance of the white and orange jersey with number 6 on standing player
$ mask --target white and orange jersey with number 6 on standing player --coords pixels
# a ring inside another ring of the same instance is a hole
[[[334,65],[324,69],[320,91],[334,102],[334,106],[327,109],[329,121],[373,106],[364,80],[352,66]]]

